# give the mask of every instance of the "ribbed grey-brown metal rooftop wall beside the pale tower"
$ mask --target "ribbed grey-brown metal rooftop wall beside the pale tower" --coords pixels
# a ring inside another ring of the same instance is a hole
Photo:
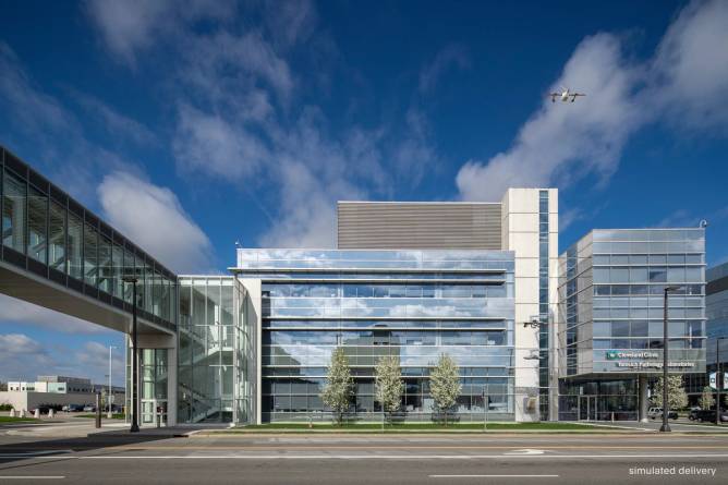
[[[339,202],[340,250],[500,250],[499,203]]]

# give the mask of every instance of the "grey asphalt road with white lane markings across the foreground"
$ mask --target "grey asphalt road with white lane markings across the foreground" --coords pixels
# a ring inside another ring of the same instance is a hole
[[[659,473],[659,474],[655,474]],[[725,483],[728,436],[0,433],[3,483]]]

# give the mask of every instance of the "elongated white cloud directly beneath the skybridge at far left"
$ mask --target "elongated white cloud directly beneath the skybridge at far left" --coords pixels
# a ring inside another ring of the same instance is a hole
[[[62,334],[107,334],[99,325],[0,294],[0,318],[4,323],[34,325]]]

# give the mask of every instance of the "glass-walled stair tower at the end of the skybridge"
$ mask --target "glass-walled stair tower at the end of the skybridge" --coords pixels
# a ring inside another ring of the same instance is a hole
[[[178,420],[245,423],[255,329],[244,322],[244,292],[232,277],[180,277]]]

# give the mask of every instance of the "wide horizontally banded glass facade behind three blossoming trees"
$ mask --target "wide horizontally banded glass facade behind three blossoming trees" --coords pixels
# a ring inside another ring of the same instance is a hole
[[[488,251],[239,250],[238,277],[262,281],[262,419],[329,420],[319,397],[342,347],[355,379],[350,414],[380,420],[378,359],[400,360],[401,417],[433,416],[429,368],[460,366],[461,421],[513,420],[513,255]]]

